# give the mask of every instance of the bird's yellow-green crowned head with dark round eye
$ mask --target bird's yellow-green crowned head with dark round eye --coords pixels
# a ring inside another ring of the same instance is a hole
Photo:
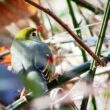
[[[25,29],[20,30],[16,37],[16,40],[40,40],[42,41],[42,38],[38,35],[38,32],[36,28],[33,27],[27,27]]]

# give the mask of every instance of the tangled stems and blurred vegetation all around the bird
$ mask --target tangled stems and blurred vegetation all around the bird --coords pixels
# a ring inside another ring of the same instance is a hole
[[[55,3],[62,7],[57,10]],[[96,4],[87,0],[0,1],[1,110],[109,110],[110,1],[97,0]],[[37,35],[48,44],[55,60],[55,75],[46,83],[46,92],[25,77],[2,76],[15,74],[9,40],[20,29],[36,25]],[[11,83],[21,87],[8,89],[10,77]],[[14,98],[10,91],[16,91]]]

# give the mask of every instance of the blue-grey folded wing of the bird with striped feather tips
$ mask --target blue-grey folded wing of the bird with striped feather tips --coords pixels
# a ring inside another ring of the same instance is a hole
[[[48,55],[52,56],[52,52],[47,44],[39,42],[34,47],[34,66],[41,73],[43,79],[50,81],[54,73],[54,65],[50,63]]]

